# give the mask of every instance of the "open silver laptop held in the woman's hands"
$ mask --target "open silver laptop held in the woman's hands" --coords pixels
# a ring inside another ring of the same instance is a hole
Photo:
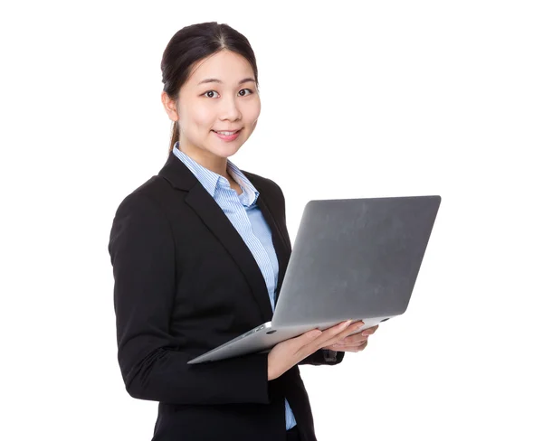
[[[271,322],[188,364],[223,360],[348,319],[362,332],[404,314],[440,196],[310,201],[300,220]]]

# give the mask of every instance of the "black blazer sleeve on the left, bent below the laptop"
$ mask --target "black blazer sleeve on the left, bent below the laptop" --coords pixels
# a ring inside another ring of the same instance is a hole
[[[156,202],[129,194],[115,213],[108,249],[119,367],[130,396],[193,405],[271,402],[266,353],[189,365],[194,356],[168,333],[176,249]]]

